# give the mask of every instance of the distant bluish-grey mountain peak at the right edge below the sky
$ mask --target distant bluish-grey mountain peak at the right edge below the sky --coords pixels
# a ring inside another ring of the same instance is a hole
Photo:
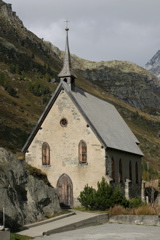
[[[145,65],[146,69],[160,78],[160,50]]]

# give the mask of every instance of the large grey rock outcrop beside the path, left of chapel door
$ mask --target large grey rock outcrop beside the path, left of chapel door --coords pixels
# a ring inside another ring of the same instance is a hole
[[[40,170],[0,148],[0,225],[16,229],[61,211],[56,190]]]

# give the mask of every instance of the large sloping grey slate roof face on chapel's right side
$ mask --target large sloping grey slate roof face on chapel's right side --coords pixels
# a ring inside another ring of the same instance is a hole
[[[72,94],[100,135],[105,147],[143,155],[137,146],[138,139],[112,104],[80,89]]]

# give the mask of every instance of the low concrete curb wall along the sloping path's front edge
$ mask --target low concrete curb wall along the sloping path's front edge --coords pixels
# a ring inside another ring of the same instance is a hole
[[[44,232],[43,235],[50,235],[50,234],[59,233],[59,232],[66,232],[66,231],[75,230],[78,228],[84,228],[84,227],[89,227],[92,225],[107,223],[108,221],[109,221],[109,215],[107,213],[104,213],[104,214],[90,217],[85,220],[77,221],[77,222],[56,228],[56,229],[49,230],[47,232]]]

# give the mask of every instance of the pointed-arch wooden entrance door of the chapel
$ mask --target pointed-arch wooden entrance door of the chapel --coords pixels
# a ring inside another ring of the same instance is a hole
[[[73,184],[67,174],[62,174],[57,182],[57,191],[61,207],[73,206]]]

